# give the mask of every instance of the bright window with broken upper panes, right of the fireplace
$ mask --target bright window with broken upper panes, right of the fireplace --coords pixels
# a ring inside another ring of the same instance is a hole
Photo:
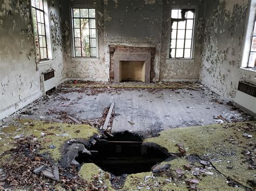
[[[195,9],[172,9],[169,58],[192,58]]]

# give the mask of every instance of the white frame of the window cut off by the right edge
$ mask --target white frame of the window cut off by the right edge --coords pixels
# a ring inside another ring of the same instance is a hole
[[[248,8],[248,12],[247,12],[247,18],[246,18],[240,69],[242,72],[248,72],[254,75],[256,74],[256,70],[254,70],[251,67],[248,67],[248,65],[249,65],[250,54],[252,52],[251,47],[252,47],[255,21],[256,21],[256,0],[251,0],[250,7]],[[254,66],[254,68],[255,67],[256,66]]]

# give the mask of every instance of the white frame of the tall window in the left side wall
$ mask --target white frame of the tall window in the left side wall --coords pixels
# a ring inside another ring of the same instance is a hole
[[[44,15],[44,30],[45,30],[45,45],[46,47],[46,52],[47,52],[47,58],[44,59],[40,59],[41,55],[40,55],[40,46],[38,46],[39,48],[39,58],[37,56],[37,46],[36,46],[36,39],[34,36],[34,44],[35,44],[35,56],[36,56],[36,63],[41,63],[41,62],[45,62],[45,61],[49,61],[52,59],[52,45],[51,45],[51,33],[50,33],[50,19],[49,19],[49,9],[48,9],[48,2],[47,0],[42,0],[43,2],[43,10],[36,8],[35,6],[32,6],[32,1],[35,0],[31,0],[30,1],[30,8],[31,8],[31,18],[32,18],[32,30],[33,30],[33,35],[35,35],[35,28],[33,27],[35,25],[35,23],[33,22],[33,9],[38,10],[43,12]],[[38,33],[38,21],[36,18],[36,25],[37,25],[37,38],[38,38],[38,44],[39,44],[39,33]],[[40,35],[41,36],[41,35]]]

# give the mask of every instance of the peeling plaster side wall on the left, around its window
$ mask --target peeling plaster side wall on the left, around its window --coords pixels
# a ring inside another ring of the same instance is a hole
[[[49,1],[49,12],[57,23],[59,4]],[[61,45],[53,48],[53,60],[37,66],[30,1],[0,0],[0,119],[42,95],[40,74],[45,70],[55,69],[57,81],[65,77]]]

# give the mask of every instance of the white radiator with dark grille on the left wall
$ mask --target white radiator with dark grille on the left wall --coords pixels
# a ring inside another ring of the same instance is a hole
[[[42,82],[42,92],[43,95],[46,95],[46,91],[49,91],[52,88],[56,88],[56,77],[54,74],[54,70],[50,72],[42,73],[41,75]]]

